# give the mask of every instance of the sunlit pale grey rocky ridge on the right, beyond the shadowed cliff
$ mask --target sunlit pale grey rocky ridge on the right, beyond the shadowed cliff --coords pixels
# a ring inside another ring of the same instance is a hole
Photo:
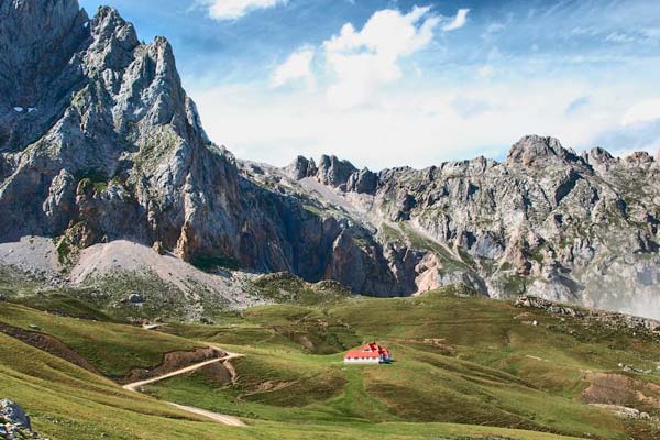
[[[647,153],[578,155],[532,135],[505,163],[352,169],[333,183],[319,173],[298,180],[359,201],[395,273],[418,250],[400,277],[413,289],[463,282],[493,297],[527,292],[641,315],[660,306],[660,163]],[[350,184],[364,176],[375,184]]]

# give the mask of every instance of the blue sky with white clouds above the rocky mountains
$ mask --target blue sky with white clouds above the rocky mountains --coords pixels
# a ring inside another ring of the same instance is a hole
[[[165,35],[211,139],[284,165],[660,148],[658,0],[80,0]]]

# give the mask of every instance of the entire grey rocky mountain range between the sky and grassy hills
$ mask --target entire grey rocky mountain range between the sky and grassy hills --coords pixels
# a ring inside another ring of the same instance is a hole
[[[527,136],[505,163],[358,169],[237,161],[207,138],[163,37],[111,8],[0,0],[0,241],[130,240],[193,263],[411,295],[463,283],[652,315],[660,165]]]

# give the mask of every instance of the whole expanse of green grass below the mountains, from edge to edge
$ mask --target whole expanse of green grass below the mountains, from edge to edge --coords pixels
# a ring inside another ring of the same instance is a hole
[[[272,292],[286,297],[283,290]],[[0,334],[1,397],[26,407],[53,439],[659,438],[656,422],[583,402],[586,393],[598,403],[605,386],[617,405],[660,416],[657,337],[452,293],[323,301],[305,294],[302,305],[288,297],[219,315],[213,326],[170,322],[168,333],[0,302],[0,323],[56,337],[106,376],[211,342],[244,354],[232,361],[234,384],[209,366],[148,385],[146,397]],[[371,340],[396,362],[343,365],[345,350]],[[239,416],[249,427],[204,421],[158,400]]]

